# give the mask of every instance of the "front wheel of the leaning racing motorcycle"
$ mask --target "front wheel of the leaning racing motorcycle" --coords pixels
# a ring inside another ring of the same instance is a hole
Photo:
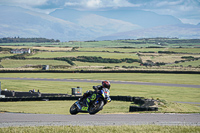
[[[88,112],[91,114],[91,115],[94,115],[96,113],[98,113],[100,110],[103,109],[103,106],[104,106],[104,101],[100,100],[97,104],[92,104],[90,107],[89,107],[89,110]]]

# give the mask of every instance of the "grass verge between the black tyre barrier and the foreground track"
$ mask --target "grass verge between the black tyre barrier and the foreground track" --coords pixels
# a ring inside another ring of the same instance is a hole
[[[74,102],[75,101],[0,102],[0,112],[69,115],[69,109]],[[129,106],[133,105],[134,104],[131,102],[112,101],[105,105],[103,110],[99,113],[129,113]],[[165,104],[159,105],[157,113],[200,113],[200,108],[190,104],[166,102]]]

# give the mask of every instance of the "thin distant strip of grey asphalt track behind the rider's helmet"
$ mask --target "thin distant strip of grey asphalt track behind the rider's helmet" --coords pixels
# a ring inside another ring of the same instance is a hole
[[[90,82],[101,83],[101,80],[89,79],[47,79],[47,78],[0,78],[3,80],[38,80],[38,81],[60,81],[60,82]],[[114,81],[110,80],[113,84],[132,84],[132,85],[153,85],[153,86],[171,86],[171,87],[189,87],[200,88],[200,85],[187,85],[187,84],[167,84],[167,83],[150,83],[150,82],[135,82],[135,81]]]

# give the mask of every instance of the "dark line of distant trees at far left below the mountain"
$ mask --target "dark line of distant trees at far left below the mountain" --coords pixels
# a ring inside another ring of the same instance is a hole
[[[0,43],[43,43],[43,42],[60,42],[60,40],[47,39],[47,38],[20,38],[20,37],[4,37],[0,38]]]

